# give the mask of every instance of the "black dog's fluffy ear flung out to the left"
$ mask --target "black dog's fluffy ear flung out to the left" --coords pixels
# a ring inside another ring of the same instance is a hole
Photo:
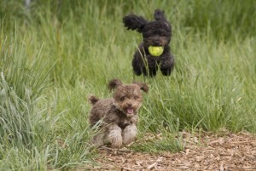
[[[137,16],[136,14],[129,14],[123,17],[123,23],[127,29],[132,31],[136,30],[138,32],[143,31],[143,27],[147,25],[148,21],[142,16]]]

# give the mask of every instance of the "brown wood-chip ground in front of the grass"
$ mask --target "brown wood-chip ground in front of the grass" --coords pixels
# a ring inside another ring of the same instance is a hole
[[[100,167],[91,170],[256,170],[256,135],[245,132],[183,133],[184,150],[148,154],[127,149],[100,150]]]

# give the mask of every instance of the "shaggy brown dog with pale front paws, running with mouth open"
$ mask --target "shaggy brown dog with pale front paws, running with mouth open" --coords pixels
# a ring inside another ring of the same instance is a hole
[[[104,145],[108,140],[112,148],[120,148],[135,140],[137,135],[137,111],[143,102],[144,92],[148,92],[146,83],[123,84],[118,79],[108,83],[110,90],[115,89],[113,98],[99,100],[91,95],[92,104],[90,111],[90,126],[94,126],[100,120],[102,124],[94,137],[96,146]]]

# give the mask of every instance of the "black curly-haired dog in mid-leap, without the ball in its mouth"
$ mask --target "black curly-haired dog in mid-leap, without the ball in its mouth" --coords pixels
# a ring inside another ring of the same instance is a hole
[[[143,33],[143,43],[138,47],[133,56],[132,67],[137,76],[142,73],[144,76],[153,77],[160,67],[163,75],[169,76],[174,66],[174,57],[171,54],[169,43],[172,37],[172,26],[166,20],[164,11],[156,9],[154,11],[154,20],[147,21],[142,16],[129,14],[123,18],[127,29]],[[162,46],[163,54],[158,57],[152,56],[148,52],[149,46]]]

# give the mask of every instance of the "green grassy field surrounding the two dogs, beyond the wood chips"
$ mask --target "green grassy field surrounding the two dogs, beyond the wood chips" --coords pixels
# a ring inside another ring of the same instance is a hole
[[[179,151],[178,131],[256,133],[256,1],[24,1],[0,3],[0,170],[85,168],[89,94],[110,97],[107,83],[133,80],[142,36],[127,31],[131,12],[172,23],[171,77],[148,83],[138,124],[164,139],[136,151]]]

